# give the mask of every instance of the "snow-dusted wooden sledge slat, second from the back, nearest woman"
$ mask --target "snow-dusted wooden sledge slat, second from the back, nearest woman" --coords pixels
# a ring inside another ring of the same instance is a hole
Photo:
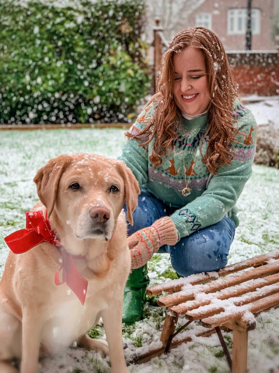
[[[204,285],[191,286],[189,291],[182,290],[180,292],[167,295],[166,297],[160,297],[158,299],[158,305],[161,307],[173,306],[187,300],[193,300],[195,298],[195,294],[198,292],[204,292],[206,294],[216,292],[229,286],[234,286],[248,280],[256,279],[262,275],[267,276],[277,272],[279,272],[279,260],[261,267],[243,271],[241,273],[228,275],[224,278],[211,281],[210,283],[206,283]]]

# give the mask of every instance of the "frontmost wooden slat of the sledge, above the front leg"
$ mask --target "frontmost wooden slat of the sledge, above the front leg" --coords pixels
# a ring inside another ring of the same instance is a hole
[[[216,327],[223,325],[231,320],[240,318],[246,311],[251,313],[258,313],[266,310],[267,308],[274,307],[279,304],[279,293],[270,295],[269,297],[261,298],[253,303],[244,306],[235,307],[234,310],[222,312],[212,317],[202,319],[202,325],[205,327]]]

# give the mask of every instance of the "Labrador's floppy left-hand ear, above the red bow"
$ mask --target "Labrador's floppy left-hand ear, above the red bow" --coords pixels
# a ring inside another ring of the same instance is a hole
[[[39,199],[47,207],[48,218],[54,209],[59,180],[70,162],[71,157],[68,154],[53,158],[38,170],[33,179],[37,185]]]

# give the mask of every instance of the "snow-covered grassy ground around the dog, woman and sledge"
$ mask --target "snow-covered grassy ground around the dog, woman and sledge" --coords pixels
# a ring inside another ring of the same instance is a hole
[[[270,106],[271,105],[271,106]],[[278,126],[278,100],[248,104],[257,122],[273,120]],[[3,238],[24,228],[25,211],[37,201],[32,179],[39,167],[50,158],[61,153],[89,152],[116,157],[125,142],[122,129],[80,129],[52,131],[2,131],[0,154],[0,276],[8,248]],[[253,166],[253,175],[247,182],[237,206],[240,226],[237,228],[229,256],[229,264],[267,253],[278,248],[279,243],[279,170],[264,166]],[[151,284],[165,281],[174,273],[167,254],[155,255],[149,263]],[[155,307],[154,298],[145,305],[145,319],[133,326],[123,325],[125,354],[129,356],[141,346],[160,338],[164,310]],[[185,320],[179,319],[180,325]],[[191,326],[192,325],[192,326]],[[201,328],[199,323],[190,324],[188,333]],[[279,367],[279,308],[257,317],[257,327],[249,332],[248,371],[271,372]],[[94,328],[97,338],[105,338],[102,325]],[[186,332],[187,333],[187,332]],[[231,352],[232,334],[224,333]],[[216,335],[195,338],[188,344],[171,350],[153,360],[130,366],[132,373],[227,373],[225,357]],[[65,352],[41,362],[40,373],[110,372],[109,359],[101,358],[79,348],[68,348]],[[121,372],[119,372],[121,373]]]

